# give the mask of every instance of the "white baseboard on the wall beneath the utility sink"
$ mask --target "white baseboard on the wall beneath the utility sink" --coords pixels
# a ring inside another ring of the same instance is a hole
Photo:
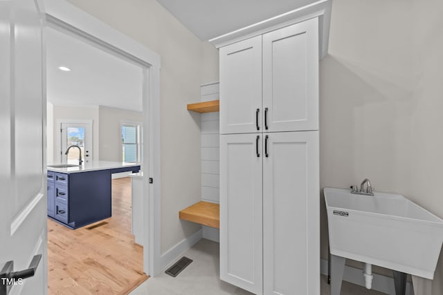
[[[321,274],[327,275],[327,259],[321,259],[320,261]],[[394,279],[389,276],[383,276],[382,274],[374,274],[372,280],[372,289],[379,292],[395,295]],[[363,278],[363,270],[356,267],[350,267],[345,265],[345,272],[343,274],[343,280],[347,282],[365,286],[365,279]],[[413,285],[406,283],[406,295],[414,295]]]

